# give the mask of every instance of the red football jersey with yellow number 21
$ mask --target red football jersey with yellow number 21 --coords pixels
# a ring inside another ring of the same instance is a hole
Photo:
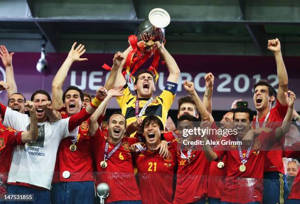
[[[146,150],[134,155],[139,176],[139,189],[143,204],[172,204],[174,198],[174,175],[177,165],[173,143],[166,159],[159,151]]]

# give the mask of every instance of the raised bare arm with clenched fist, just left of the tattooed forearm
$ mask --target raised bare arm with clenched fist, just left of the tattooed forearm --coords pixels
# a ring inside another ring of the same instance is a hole
[[[209,113],[207,112],[205,106],[203,105],[201,99],[199,98],[195,86],[193,82],[185,81],[183,84],[183,87],[188,93],[191,95],[193,101],[196,104],[196,108],[199,111],[199,114],[201,116],[201,121],[209,121]]]

